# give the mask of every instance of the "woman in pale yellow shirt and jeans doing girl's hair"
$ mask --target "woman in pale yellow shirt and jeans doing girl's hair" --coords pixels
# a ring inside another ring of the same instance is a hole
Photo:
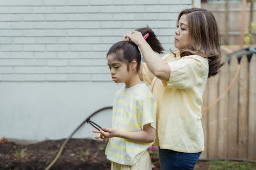
[[[202,96],[207,78],[218,74],[221,62],[217,22],[206,9],[180,12],[174,44],[177,52],[160,58],[140,32],[123,36],[139,46],[145,63],[141,79],[152,85],[157,101],[154,145],[161,169],[194,169],[204,150]]]

